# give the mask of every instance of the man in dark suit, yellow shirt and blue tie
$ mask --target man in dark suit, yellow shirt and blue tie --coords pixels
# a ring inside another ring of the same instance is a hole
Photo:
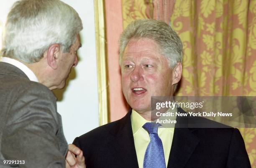
[[[120,36],[119,60],[123,94],[132,109],[74,140],[87,168],[250,167],[238,129],[168,128],[150,122],[151,96],[172,97],[182,74],[182,42],[169,25],[160,20],[128,25]],[[177,117],[177,123],[188,120]]]

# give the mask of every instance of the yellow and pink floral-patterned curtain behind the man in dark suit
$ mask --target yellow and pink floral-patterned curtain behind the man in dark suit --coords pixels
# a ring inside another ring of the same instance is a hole
[[[156,18],[179,34],[177,96],[256,96],[256,0],[122,0],[122,10],[123,28]],[[256,129],[239,130],[256,168]]]

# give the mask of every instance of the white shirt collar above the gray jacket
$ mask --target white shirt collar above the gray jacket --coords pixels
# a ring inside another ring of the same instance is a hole
[[[8,57],[3,57],[1,59],[1,62],[5,62],[8,64],[12,64],[13,66],[16,66],[18,69],[23,71],[24,74],[26,74],[28,76],[29,80],[38,82],[38,79],[37,79],[36,75],[33,73],[33,71],[31,71],[31,69],[29,69],[25,64],[21,63],[20,61],[17,61],[15,59],[11,59]]]

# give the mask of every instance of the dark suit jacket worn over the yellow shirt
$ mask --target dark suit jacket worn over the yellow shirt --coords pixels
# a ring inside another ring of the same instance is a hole
[[[131,111],[118,121],[77,137],[74,144],[83,150],[86,168],[138,168]],[[249,167],[238,129],[175,128],[167,168]]]

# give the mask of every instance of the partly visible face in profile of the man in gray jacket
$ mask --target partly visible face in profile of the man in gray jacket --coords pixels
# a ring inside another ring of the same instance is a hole
[[[81,47],[80,37],[77,35],[77,40],[70,47],[68,53],[61,53],[60,64],[58,67],[58,76],[56,76],[56,82],[58,82],[58,89],[62,89],[65,86],[65,81],[71,72],[72,67],[77,66],[77,50]]]

